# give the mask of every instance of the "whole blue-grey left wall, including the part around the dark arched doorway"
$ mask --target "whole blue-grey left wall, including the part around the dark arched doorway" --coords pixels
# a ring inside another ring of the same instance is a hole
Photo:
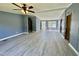
[[[36,31],[36,27],[38,27],[36,16],[0,11],[0,39],[22,32],[28,32],[28,17],[32,19],[33,31]]]

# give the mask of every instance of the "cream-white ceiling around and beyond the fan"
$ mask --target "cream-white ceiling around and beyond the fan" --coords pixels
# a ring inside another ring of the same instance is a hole
[[[20,3],[17,4],[22,6]],[[67,8],[69,5],[71,5],[70,3],[26,3],[26,4],[29,6],[32,5],[34,7],[32,10],[34,10],[35,13],[34,14],[29,13],[29,14],[36,15],[40,20],[59,19],[59,16],[65,10],[60,8]],[[0,3],[0,11],[23,14],[21,11],[13,9],[18,9],[18,7],[12,5],[11,3]]]

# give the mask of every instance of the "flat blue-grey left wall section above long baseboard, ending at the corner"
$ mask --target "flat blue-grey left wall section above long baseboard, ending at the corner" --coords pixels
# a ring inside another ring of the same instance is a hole
[[[22,32],[23,21],[21,15],[0,12],[0,39]]]

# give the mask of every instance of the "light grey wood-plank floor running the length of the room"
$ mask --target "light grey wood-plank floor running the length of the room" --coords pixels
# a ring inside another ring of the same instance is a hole
[[[57,31],[34,32],[0,42],[2,56],[75,56]]]

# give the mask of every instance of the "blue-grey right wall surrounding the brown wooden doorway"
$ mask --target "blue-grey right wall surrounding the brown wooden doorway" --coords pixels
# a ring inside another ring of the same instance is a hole
[[[72,4],[66,11],[65,16],[62,16],[66,22],[66,16],[72,14],[70,28],[70,43],[79,52],[79,4]],[[62,18],[61,17],[61,18]],[[65,25],[65,23],[64,23]]]

